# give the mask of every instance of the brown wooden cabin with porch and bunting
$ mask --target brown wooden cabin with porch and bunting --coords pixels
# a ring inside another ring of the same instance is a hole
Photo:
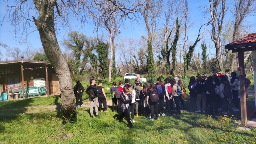
[[[69,63],[68,67],[72,67]],[[45,86],[47,95],[59,95],[60,84],[50,62],[35,60],[13,60],[0,62],[0,90],[7,93],[8,99],[20,98],[21,87]],[[10,90],[15,90],[13,93]],[[9,93],[10,92],[10,93]],[[16,96],[13,96],[13,95]],[[17,96],[18,95],[18,96]]]

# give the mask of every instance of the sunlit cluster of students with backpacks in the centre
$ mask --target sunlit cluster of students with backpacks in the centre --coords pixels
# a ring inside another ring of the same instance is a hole
[[[113,101],[113,112],[119,112],[119,121],[125,117],[130,128],[135,128],[132,123],[135,122],[134,116],[145,115],[149,120],[159,120],[160,115],[164,114],[164,99],[166,99],[167,112],[169,115],[174,113],[174,102],[176,104],[176,114],[179,115],[181,110],[185,111],[184,101],[187,97],[185,94],[184,86],[179,78],[175,77],[171,79],[168,77],[164,82],[158,78],[156,84],[152,80],[148,81],[148,84],[143,84],[137,77],[135,84],[125,79],[125,85],[123,82],[113,82],[113,87],[110,88]],[[119,99],[119,100],[118,100]],[[118,101],[118,106],[117,106]],[[181,103],[181,110],[179,108]],[[130,119],[131,114],[131,119]]]

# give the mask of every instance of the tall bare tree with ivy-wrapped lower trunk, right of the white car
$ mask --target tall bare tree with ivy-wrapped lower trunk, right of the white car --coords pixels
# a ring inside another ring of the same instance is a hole
[[[154,63],[152,39],[159,24],[159,19],[162,14],[162,0],[144,0],[141,2],[141,15],[146,24],[148,32],[147,38],[143,37],[148,43],[148,55],[147,55],[147,68],[150,79],[156,78],[156,66]]]

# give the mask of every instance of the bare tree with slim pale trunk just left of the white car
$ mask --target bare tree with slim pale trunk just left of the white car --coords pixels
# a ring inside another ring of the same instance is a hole
[[[107,0],[105,2],[102,2],[102,0],[93,0],[90,2],[88,10],[90,17],[93,19],[94,26],[97,29],[101,27],[109,33],[109,82],[111,81],[112,67],[115,67],[115,60],[113,61],[113,57],[115,58],[115,37],[120,33],[120,27],[124,24],[125,19],[135,20],[135,12],[138,11],[138,5],[132,2],[128,5],[127,2],[125,0]],[[130,14],[132,17],[129,16]]]

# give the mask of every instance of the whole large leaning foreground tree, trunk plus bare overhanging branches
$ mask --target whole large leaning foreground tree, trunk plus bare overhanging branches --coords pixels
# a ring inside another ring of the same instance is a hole
[[[77,119],[73,98],[73,83],[67,62],[63,57],[56,37],[56,27],[70,28],[70,19],[84,24],[86,21],[87,1],[57,0],[17,0],[15,5],[6,5],[6,15],[15,26],[15,33],[20,38],[38,30],[46,56],[53,65],[60,82],[61,111],[70,121]],[[34,15],[31,17],[31,15]],[[5,18],[5,17],[4,17]],[[31,19],[33,18],[33,19]]]

